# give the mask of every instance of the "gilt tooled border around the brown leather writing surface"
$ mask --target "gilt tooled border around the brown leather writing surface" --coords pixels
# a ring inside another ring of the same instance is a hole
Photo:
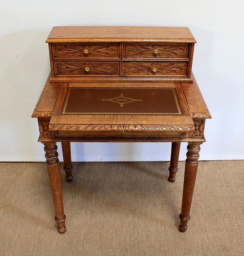
[[[123,88],[111,88],[111,87],[108,87],[108,88],[101,88],[101,87],[82,87],[83,89],[140,89],[140,90],[147,90],[147,89],[155,89],[155,90],[172,90],[173,91],[173,94],[174,94],[174,100],[175,100],[175,104],[177,106],[177,110],[178,110],[178,113],[139,113],[139,112],[65,112],[66,111],[66,107],[67,107],[67,103],[68,103],[68,100],[69,100],[69,97],[70,97],[70,90],[74,88],[74,87],[70,87],[69,90],[68,90],[68,93],[67,93],[67,97],[66,97],[66,100],[65,100],[65,103],[64,103],[64,107],[63,107],[63,111],[62,111],[62,114],[120,114],[120,115],[124,115],[124,114],[137,114],[137,115],[140,115],[140,114],[150,114],[150,115],[181,115],[181,109],[180,109],[180,106],[179,106],[179,102],[178,102],[178,99],[177,99],[177,96],[176,96],[176,93],[175,93],[175,88],[128,88],[128,87],[123,87]]]

